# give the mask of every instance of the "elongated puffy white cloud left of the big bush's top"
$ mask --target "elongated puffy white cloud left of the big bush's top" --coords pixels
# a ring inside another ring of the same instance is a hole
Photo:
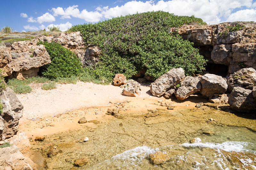
[[[102,14],[98,11],[87,11],[86,9],[80,10],[77,8],[78,5],[73,5],[69,6],[68,8],[62,8],[62,7],[57,7],[57,8],[52,8],[52,12],[54,16],[61,15],[61,19],[66,19],[66,18],[80,18],[84,19],[87,22],[97,22],[102,18]]]

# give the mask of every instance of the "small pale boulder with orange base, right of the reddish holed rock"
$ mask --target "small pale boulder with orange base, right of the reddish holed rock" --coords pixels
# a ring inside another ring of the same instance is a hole
[[[122,94],[125,96],[136,97],[140,95],[140,91],[141,91],[140,84],[130,79],[127,81]]]

